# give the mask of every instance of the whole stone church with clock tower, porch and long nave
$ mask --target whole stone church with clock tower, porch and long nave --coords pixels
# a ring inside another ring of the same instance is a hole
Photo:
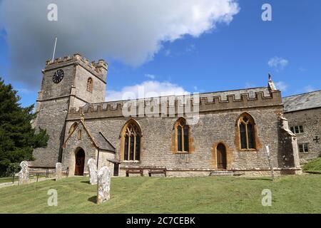
[[[105,61],[89,63],[79,54],[46,62],[33,124],[50,138],[34,150],[32,166],[61,162],[69,175],[86,175],[94,158],[120,176],[156,168],[167,176],[269,175],[268,146],[276,174],[301,172],[305,146],[297,143],[271,78],[261,88],[105,102],[107,71]],[[291,111],[290,123],[303,125]],[[315,112],[320,120],[320,109]]]

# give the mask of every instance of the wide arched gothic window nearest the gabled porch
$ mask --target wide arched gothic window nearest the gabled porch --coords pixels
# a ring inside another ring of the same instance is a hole
[[[123,160],[141,160],[141,128],[135,120],[126,123],[121,137],[123,140]]]

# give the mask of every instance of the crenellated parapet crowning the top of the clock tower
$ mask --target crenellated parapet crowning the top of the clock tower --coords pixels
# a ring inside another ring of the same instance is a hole
[[[89,62],[88,59],[83,58],[81,54],[76,53],[73,56],[65,56],[63,58],[56,58],[54,61],[48,60],[46,61],[46,68],[44,68],[43,73],[45,71],[51,71],[55,68],[61,68],[66,65],[80,65],[83,68],[86,68],[87,71],[90,71],[94,75],[101,78],[103,81],[106,81],[106,73],[108,71],[108,63],[103,59]]]

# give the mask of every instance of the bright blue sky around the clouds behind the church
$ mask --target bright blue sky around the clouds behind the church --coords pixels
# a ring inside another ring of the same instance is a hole
[[[272,21],[261,19],[264,3],[272,6]],[[218,23],[197,37],[186,34],[163,41],[153,58],[138,66],[103,51],[96,59],[103,57],[108,62],[107,90],[121,91],[146,81],[170,83],[190,92],[233,90],[266,86],[269,72],[284,96],[321,89],[321,1],[240,0],[238,4],[240,11],[229,24]],[[30,86],[10,76],[9,68],[19,68],[19,62],[9,58],[6,33],[4,26],[0,30],[0,75],[19,90],[21,103],[30,105],[36,102],[40,81]],[[63,41],[58,40],[57,50],[59,42]],[[79,52],[81,49],[79,46]],[[279,66],[269,66],[273,58]],[[44,68],[45,61],[38,65]],[[41,71],[38,74],[34,77],[41,78]]]

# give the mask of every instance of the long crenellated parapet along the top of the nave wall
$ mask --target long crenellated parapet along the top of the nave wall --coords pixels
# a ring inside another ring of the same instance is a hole
[[[119,100],[71,108],[68,119],[188,116],[195,113],[282,105],[280,90],[253,88],[216,93],[173,95],[158,98]]]

